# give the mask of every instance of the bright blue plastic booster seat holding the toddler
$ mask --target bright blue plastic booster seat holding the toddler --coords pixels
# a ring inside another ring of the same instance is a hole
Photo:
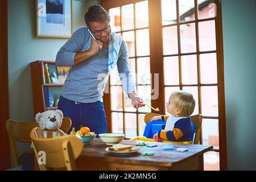
[[[143,136],[146,138],[153,138],[155,133],[158,133],[159,130],[163,130],[163,126],[166,125],[166,121],[151,121],[148,122]],[[192,134],[191,134],[191,141],[193,142],[194,135],[195,135],[195,125],[191,122],[192,127]]]

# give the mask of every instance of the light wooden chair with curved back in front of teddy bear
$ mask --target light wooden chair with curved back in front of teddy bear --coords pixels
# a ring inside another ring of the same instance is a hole
[[[39,164],[41,171],[49,168],[64,168],[68,171],[76,170],[75,160],[79,157],[84,146],[76,135],[67,135],[44,139],[39,127],[32,129],[30,133],[37,161],[40,161],[38,152],[46,154],[45,164]],[[42,155],[40,155],[40,158]]]

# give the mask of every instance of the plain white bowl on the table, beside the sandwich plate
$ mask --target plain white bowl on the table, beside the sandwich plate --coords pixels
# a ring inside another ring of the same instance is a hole
[[[125,138],[125,134],[123,133],[102,133],[98,135],[102,142],[106,144],[117,144],[122,142],[123,138]]]

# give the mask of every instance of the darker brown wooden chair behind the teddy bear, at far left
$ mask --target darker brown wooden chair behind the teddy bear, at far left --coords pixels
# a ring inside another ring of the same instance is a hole
[[[64,117],[60,129],[67,133],[67,131],[71,127],[71,124],[71,119],[68,117]],[[31,143],[30,131],[34,129],[34,127],[38,127],[38,123],[34,121],[24,122],[11,119],[6,121],[6,130],[9,134],[10,150],[11,156],[13,156],[14,167],[19,166],[18,152],[16,149],[15,141],[22,143]],[[27,152],[31,153],[29,149],[27,150]]]

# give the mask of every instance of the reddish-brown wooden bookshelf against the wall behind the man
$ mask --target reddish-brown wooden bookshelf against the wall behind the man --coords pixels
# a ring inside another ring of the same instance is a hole
[[[55,92],[54,101],[56,101],[60,96],[60,90],[63,87],[63,84],[48,84],[43,83],[42,76],[42,64],[48,64],[51,69],[56,69],[57,67],[55,61],[34,61],[30,63],[31,68],[31,81],[32,81],[32,92],[33,92],[33,100],[34,100],[34,114],[42,113],[46,110],[55,110],[57,107],[53,105],[53,107],[49,107],[49,102],[47,104],[49,97],[49,90],[57,90]],[[60,88],[59,90],[57,88]],[[48,90],[48,92],[46,92]],[[48,94],[48,96],[46,96]]]

